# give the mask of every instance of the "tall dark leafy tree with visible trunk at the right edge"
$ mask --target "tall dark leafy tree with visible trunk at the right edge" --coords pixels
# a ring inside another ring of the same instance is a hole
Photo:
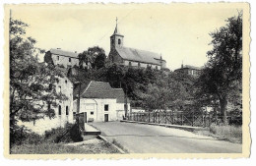
[[[226,105],[231,90],[238,90],[242,80],[242,13],[228,18],[226,26],[211,32],[213,49],[199,78],[200,94],[217,99],[226,124]]]

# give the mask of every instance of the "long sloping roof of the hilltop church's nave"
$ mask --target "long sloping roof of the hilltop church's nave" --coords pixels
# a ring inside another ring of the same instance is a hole
[[[128,47],[120,47],[120,48],[117,47],[116,51],[125,60],[160,65],[160,60],[161,60],[160,54],[155,52],[144,51],[144,50],[128,48]]]

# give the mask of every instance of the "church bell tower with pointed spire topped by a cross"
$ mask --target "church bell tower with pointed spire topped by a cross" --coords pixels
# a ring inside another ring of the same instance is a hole
[[[114,48],[121,48],[123,47],[123,35],[120,34],[118,28],[117,28],[117,21],[118,19],[116,18],[115,22],[116,22],[116,26],[114,29],[114,33],[110,36],[110,49],[114,49]]]

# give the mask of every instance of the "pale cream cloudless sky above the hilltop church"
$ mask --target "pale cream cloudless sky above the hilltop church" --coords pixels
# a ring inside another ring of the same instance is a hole
[[[30,25],[27,35],[36,47],[61,48],[78,53],[98,45],[106,55],[115,28],[124,35],[124,46],[161,54],[171,71],[184,65],[204,66],[212,38],[210,32],[237,15],[231,4],[87,4],[19,5],[12,17]],[[43,60],[43,56],[40,56]]]

